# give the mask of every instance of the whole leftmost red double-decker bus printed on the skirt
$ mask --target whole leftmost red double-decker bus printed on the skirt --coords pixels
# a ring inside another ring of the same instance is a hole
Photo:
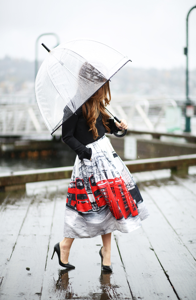
[[[75,182],[70,182],[66,205],[78,212],[92,211],[92,205],[86,193],[83,179],[76,178]]]

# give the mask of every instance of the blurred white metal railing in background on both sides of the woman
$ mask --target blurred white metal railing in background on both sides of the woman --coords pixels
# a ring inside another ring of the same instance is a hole
[[[170,98],[137,99],[123,95],[112,97],[109,109],[118,118],[125,118],[130,129],[165,132],[165,112],[168,107],[176,108],[177,102]],[[196,118],[192,118],[191,122],[192,129],[196,129]],[[34,95],[15,95],[13,98],[12,95],[0,96],[0,136],[42,133],[50,135]],[[61,129],[55,134],[61,134]]]

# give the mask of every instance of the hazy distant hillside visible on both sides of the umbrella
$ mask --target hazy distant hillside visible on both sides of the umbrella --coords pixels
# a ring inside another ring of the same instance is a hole
[[[34,62],[0,59],[0,93],[34,93],[34,76]],[[185,95],[185,70],[125,66],[111,78],[111,91],[113,94]],[[196,70],[190,72],[190,95],[196,96]]]

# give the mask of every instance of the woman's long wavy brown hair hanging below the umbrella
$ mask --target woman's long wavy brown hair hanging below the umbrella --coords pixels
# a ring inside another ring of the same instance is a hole
[[[109,96],[109,99],[107,98]],[[82,106],[82,112],[86,119],[87,125],[90,127],[89,131],[92,130],[94,140],[99,136],[96,129],[96,119],[99,114],[102,115],[102,121],[107,132],[110,132],[110,128],[107,126],[107,120],[110,116],[105,111],[105,107],[110,103],[111,93],[109,81],[107,81],[85,104]]]

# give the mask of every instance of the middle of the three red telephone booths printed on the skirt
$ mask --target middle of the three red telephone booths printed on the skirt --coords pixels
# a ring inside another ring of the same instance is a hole
[[[109,181],[112,193],[116,197],[117,201],[119,201],[119,206],[123,213],[123,216],[125,219],[127,219],[127,217],[131,213],[131,210],[130,210],[130,206],[129,206],[128,199],[127,199],[128,195],[126,195],[126,191],[123,188],[123,184],[122,184],[120,178],[113,178],[113,179],[109,179],[108,181]]]

